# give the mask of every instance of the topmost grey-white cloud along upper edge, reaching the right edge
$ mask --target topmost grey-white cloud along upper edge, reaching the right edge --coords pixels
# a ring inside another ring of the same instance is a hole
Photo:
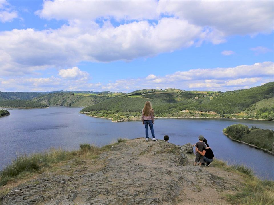
[[[273,3],[265,0],[46,0],[37,14],[41,18],[69,22],[110,18],[118,21],[158,20],[164,14],[225,35],[269,33],[274,28]]]

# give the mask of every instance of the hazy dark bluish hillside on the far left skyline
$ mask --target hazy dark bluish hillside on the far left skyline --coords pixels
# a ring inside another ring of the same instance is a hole
[[[0,92],[1,100],[31,100],[37,96],[43,95],[39,92]]]

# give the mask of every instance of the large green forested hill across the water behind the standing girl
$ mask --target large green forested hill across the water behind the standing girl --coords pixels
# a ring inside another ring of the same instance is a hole
[[[144,102],[152,102],[158,117],[236,117],[274,119],[274,82],[229,92],[139,90],[84,108],[94,116],[140,116]],[[257,106],[260,104],[260,106]],[[256,108],[255,108],[256,107]],[[117,119],[117,117],[115,118]]]

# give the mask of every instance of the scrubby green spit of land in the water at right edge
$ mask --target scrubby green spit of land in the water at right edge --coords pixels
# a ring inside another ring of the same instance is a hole
[[[274,155],[273,130],[264,130],[253,126],[248,128],[243,124],[233,124],[223,129],[223,133],[231,140],[262,149]]]

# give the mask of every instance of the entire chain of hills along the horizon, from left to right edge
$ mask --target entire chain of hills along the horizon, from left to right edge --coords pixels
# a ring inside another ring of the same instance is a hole
[[[234,91],[142,89],[130,93],[110,91],[0,92],[1,100],[30,99],[47,106],[85,107],[81,112],[117,121],[138,119],[145,101],[156,117],[227,117],[274,120],[274,82]],[[7,103],[7,102],[6,102]]]

